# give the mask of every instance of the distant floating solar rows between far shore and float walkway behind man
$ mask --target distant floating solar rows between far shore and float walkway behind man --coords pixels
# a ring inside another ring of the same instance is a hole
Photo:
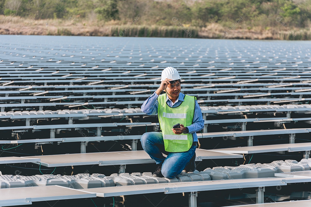
[[[5,110],[139,107],[166,66],[179,70],[183,92],[209,104],[310,100],[309,42],[106,38],[77,45],[63,38],[51,45],[41,38],[29,45],[3,39]]]

